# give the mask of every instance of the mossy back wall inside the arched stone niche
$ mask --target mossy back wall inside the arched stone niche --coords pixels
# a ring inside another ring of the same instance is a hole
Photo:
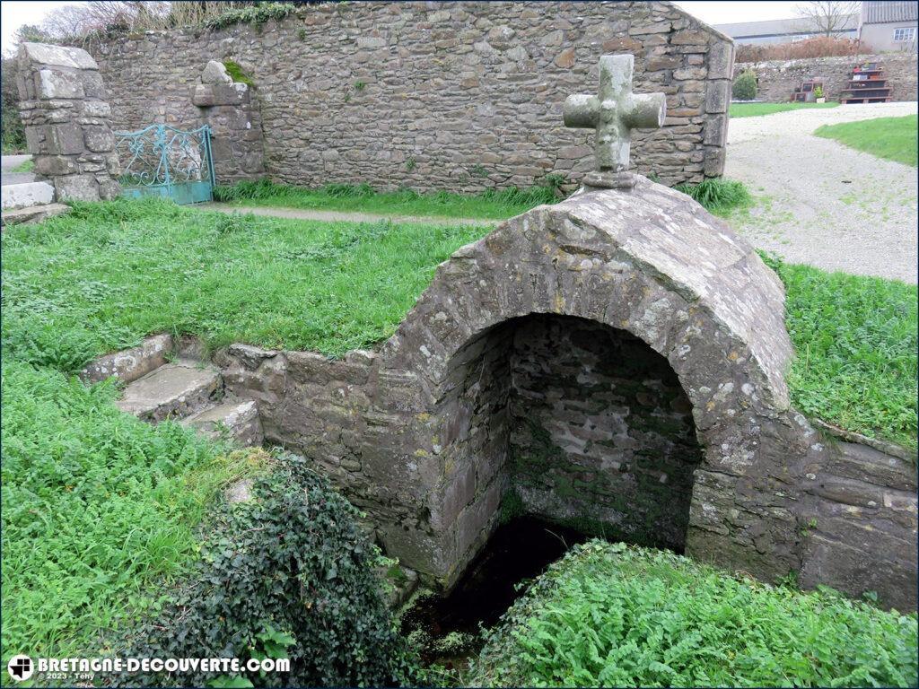
[[[509,475],[527,512],[683,552],[702,451],[666,359],[596,322],[513,325]]]

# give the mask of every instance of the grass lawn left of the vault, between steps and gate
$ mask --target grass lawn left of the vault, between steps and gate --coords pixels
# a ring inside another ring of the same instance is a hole
[[[3,234],[5,354],[75,370],[157,332],[341,355],[389,337],[438,263],[488,232],[77,205]]]

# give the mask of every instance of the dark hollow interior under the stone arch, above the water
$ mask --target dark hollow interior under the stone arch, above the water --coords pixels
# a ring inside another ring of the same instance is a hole
[[[683,552],[702,448],[675,371],[638,337],[574,316],[508,320],[452,357],[440,409],[451,464],[475,486],[459,493],[461,559],[499,512]]]

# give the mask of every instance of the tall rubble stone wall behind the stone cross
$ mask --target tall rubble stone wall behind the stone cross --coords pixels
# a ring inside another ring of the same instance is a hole
[[[720,175],[731,40],[663,2],[340,3],[264,26],[129,35],[97,46],[119,129],[184,125],[210,60],[255,84],[267,173],[307,186],[481,190],[574,181],[589,131],[562,102],[596,93],[598,57],[635,54],[635,90],[663,91],[664,130],[636,132],[638,169],[666,184]]]

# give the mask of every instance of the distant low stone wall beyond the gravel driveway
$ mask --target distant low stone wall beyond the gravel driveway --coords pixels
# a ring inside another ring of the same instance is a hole
[[[759,87],[757,100],[784,103],[801,82],[823,77],[827,100],[839,100],[848,85],[852,68],[859,62],[880,62],[891,86],[895,101],[916,99],[916,58],[912,54],[861,55],[858,57],[808,58],[806,60],[771,60],[768,62],[738,62],[735,76],[750,69],[756,74]]]

